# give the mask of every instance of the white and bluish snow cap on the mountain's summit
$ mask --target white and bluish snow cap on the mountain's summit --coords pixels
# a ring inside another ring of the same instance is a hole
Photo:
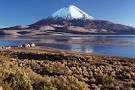
[[[94,17],[88,15],[78,7],[74,5],[69,5],[68,7],[61,8],[57,10],[53,15],[53,18],[64,18],[64,19],[90,19],[93,20]]]

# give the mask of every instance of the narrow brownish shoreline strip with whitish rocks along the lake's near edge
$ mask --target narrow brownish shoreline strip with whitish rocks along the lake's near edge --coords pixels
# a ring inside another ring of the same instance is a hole
[[[47,46],[36,46],[35,43],[26,43],[22,44],[19,46],[0,46],[0,50],[13,50],[13,49],[28,49],[33,48],[33,49],[43,49],[47,51],[57,51],[58,53],[60,52],[65,52],[65,53],[77,53],[77,54],[82,54],[82,55],[91,55],[91,56],[97,56],[97,57],[114,57],[114,58],[127,58],[127,59],[135,59],[134,57],[124,57],[124,56],[114,56],[114,55],[103,55],[103,54],[93,54],[93,53],[87,53],[87,52],[79,52],[79,51],[71,51],[71,50],[64,50],[64,49],[57,49],[53,47],[47,47]]]

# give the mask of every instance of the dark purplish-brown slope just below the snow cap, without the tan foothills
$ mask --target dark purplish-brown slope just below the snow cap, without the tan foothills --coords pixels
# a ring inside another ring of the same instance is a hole
[[[32,25],[30,25],[31,28],[39,29],[42,26],[50,25],[53,26],[56,25],[62,25],[62,29],[65,30],[69,26],[75,26],[75,27],[82,27],[86,30],[89,30],[91,33],[91,29],[94,29],[95,32],[93,33],[116,33],[116,34],[134,34],[135,28],[122,25],[122,24],[115,24],[110,21],[105,20],[85,20],[85,19],[73,19],[73,20],[65,20],[62,18],[48,18],[40,20]],[[106,30],[106,31],[103,31]]]

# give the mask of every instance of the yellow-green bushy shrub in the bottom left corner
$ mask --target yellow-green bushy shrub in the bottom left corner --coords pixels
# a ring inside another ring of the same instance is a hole
[[[31,80],[25,72],[10,73],[4,82],[15,90],[32,90]]]

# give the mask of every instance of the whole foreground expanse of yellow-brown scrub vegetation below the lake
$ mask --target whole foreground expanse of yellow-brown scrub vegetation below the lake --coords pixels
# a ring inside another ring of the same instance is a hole
[[[134,90],[135,59],[41,48],[0,50],[4,90]]]

